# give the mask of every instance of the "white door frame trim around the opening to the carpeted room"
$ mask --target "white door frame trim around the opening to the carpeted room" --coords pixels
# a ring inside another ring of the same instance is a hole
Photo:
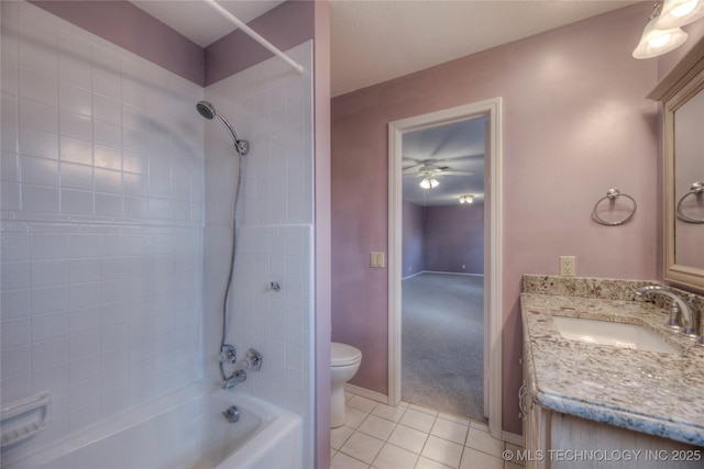
[[[487,116],[484,160],[484,409],[490,433],[502,438],[502,98],[416,115],[388,124],[388,404],[402,398],[403,135]],[[488,210],[487,210],[488,209]],[[488,372],[486,369],[488,364]]]

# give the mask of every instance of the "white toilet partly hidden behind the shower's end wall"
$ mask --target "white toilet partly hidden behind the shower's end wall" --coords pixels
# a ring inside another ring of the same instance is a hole
[[[344,425],[344,383],[360,369],[362,353],[351,345],[333,342],[330,344],[330,427]]]

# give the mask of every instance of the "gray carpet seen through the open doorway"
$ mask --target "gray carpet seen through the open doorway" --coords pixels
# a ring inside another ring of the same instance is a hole
[[[402,399],[484,417],[484,277],[421,273],[403,281]]]

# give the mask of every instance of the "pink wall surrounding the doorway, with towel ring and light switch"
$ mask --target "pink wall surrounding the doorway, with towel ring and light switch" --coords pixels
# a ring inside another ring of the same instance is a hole
[[[651,4],[553,30],[370,87],[332,101],[332,338],[359,347],[352,382],[387,392],[387,272],[367,267],[387,250],[387,124],[503,98],[503,428],[520,433],[517,392],[522,273],[657,277],[659,125],[656,60],[631,52]],[[616,187],[635,219],[590,217]]]

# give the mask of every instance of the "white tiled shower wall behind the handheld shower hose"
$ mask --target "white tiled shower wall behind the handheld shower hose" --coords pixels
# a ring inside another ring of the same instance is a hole
[[[238,258],[228,340],[258,349],[250,392],[304,416],[306,467],[314,448],[312,43],[288,51],[306,72],[272,58],[206,89],[206,99],[250,141],[243,159]],[[222,292],[229,267],[238,165],[229,133],[206,126],[205,375],[219,379]],[[280,283],[280,291],[271,282]]]

